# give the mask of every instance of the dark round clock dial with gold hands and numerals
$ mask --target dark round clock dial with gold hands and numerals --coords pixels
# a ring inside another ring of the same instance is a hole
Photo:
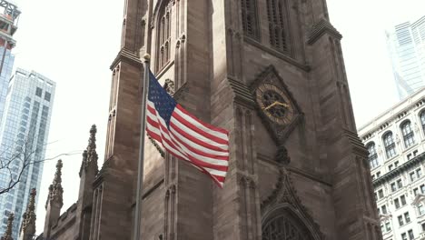
[[[262,84],[256,90],[257,103],[262,113],[279,125],[288,125],[293,118],[293,106],[279,87]]]

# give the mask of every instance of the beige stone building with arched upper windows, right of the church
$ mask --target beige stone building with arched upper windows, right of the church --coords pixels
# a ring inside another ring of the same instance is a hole
[[[359,130],[384,240],[425,239],[425,87]]]

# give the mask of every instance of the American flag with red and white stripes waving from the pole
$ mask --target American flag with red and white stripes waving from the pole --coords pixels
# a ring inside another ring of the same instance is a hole
[[[171,155],[188,161],[222,187],[229,163],[229,133],[203,123],[175,102],[150,73],[146,131]]]

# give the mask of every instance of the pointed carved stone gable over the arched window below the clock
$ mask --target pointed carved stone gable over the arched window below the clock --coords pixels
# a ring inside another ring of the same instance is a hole
[[[282,206],[282,207],[281,207]],[[261,205],[262,216],[263,218],[267,218],[267,216],[274,215],[275,211],[279,211],[279,209],[288,209],[289,212],[295,211],[297,214],[295,218],[298,218],[299,222],[305,226],[305,229],[308,230],[312,238],[293,238],[293,239],[314,239],[314,240],[322,240],[324,239],[324,235],[320,231],[320,226],[314,222],[311,217],[310,211],[301,204],[301,199],[296,194],[296,190],[293,187],[293,183],[291,180],[290,173],[286,170],[285,167],[281,167],[279,169],[279,177],[278,181],[275,185],[275,189],[267,199],[262,202]],[[278,210],[277,210],[278,209]],[[270,217],[269,217],[270,218]],[[282,220],[276,220],[276,223],[272,223],[272,225],[280,225],[282,224]],[[279,222],[281,221],[281,222]],[[263,219],[263,229],[267,230],[268,223],[270,223],[270,219],[264,222]],[[301,231],[301,230],[299,230]],[[277,233],[277,235],[284,235],[284,233]],[[292,234],[296,235],[296,232]],[[273,238],[272,235],[263,235],[263,240],[274,240],[274,239],[288,239],[288,238]],[[289,238],[292,239],[292,238]]]

